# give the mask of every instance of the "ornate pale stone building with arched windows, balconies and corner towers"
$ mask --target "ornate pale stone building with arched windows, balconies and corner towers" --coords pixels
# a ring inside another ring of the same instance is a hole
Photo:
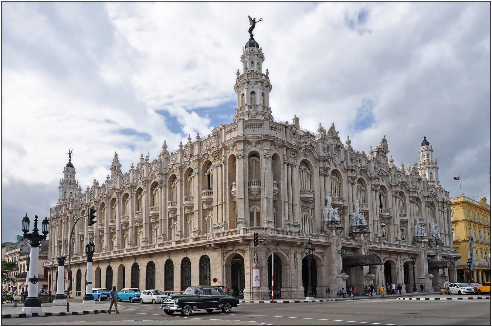
[[[428,291],[441,275],[456,280],[456,269],[431,269],[428,261],[454,267],[460,257],[450,232],[449,192],[439,185],[429,142],[424,139],[420,160],[405,170],[388,158],[385,137],[367,155],[353,149],[348,136],[343,144],[335,124],[328,130],[320,124],[313,133],[297,116],[292,123],[275,121],[269,72],[252,35],[241,61],[234,122],[204,137],[188,135],[172,152],[164,141],[158,158],[142,155],[124,174],[115,153],[111,176],[101,185],[94,179],[84,192],[69,160],[50,211],[44,263],[50,276],[71,242],[72,289],[83,292],[83,250],[92,241],[94,287],[179,293],[215,277],[233,295],[268,299],[273,261],[275,294],[295,299],[306,293],[310,240],[315,293],[391,281],[409,290],[412,255]],[[97,223],[80,219],[69,239],[74,219],[89,208],[98,210]],[[272,245],[274,258],[262,242],[253,246],[253,233]],[[354,264],[355,255],[362,264]],[[252,268],[260,268],[260,287],[252,286]]]

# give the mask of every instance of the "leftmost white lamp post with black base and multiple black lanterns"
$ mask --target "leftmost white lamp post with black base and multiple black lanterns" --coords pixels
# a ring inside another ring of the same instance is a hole
[[[32,267],[34,267],[34,269],[32,269],[32,271],[29,271],[28,298],[24,301],[22,312],[42,312],[41,301],[39,300],[37,294],[37,282],[39,278],[36,277],[36,274],[38,274],[36,273],[36,271],[39,260],[39,244],[40,241],[46,240],[46,237],[49,233],[50,222],[48,221],[48,218],[44,218],[43,222],[41,223],[41,233],[43,233],[43,235],[39,235],[38,233],[39,230],[37,229],[37,216],[34,217],[34,228],[32,229],[32,233],[28,233],[29,224],[29,217],[26,213],[26,217],[22,219],[22,231],[24,232],[24,239],[31,240],[30,261],[32,261]]]

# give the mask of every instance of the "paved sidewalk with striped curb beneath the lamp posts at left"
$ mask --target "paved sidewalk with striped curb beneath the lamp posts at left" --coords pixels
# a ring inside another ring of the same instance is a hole
[[[87,315],[94,313],[107,313],[109,309],[109,301],[99,302],[95,304],[82,304],[81,300],[70,299],[70,311],[66,312],[66,305],[41,304],[43,312],[39,313],[23,313],[23,304],[18,304],[16,308],[12,303],[1,305],[1,318],[23,318],[23,317],[44,317],[44,316],[66,316],[66,315]],[[118,303],[118,310],[124,310],[126,307]],[[114,306],[112,311],[114,311]],[[46,313],[46,314],[45,314]]]

